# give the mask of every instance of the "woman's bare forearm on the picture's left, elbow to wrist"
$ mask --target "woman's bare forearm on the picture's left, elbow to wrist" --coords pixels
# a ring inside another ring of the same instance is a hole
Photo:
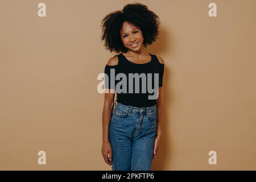
[[[104,102],[102,111],[102,141],[109,142],[109,123],[111,119],[112,109],[114,106],[113,101]]]

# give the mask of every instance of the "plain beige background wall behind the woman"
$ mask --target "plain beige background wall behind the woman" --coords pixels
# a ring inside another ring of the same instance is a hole
[[[0,169],[110,170],[101,155],[100,23],[135,1],[0,1]],[[138,1],[160,17],[163,136],[155,170],[256,169],[256,1]],[[44,150],[47,164],[38,165]],[[217,165],[208,152],[217,152]]]

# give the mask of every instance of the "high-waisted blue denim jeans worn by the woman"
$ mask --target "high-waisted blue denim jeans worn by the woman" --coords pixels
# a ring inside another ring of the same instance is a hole
[[[113,171],[150,171],[157,127],[156,105],[116,102],[109,125]]]

